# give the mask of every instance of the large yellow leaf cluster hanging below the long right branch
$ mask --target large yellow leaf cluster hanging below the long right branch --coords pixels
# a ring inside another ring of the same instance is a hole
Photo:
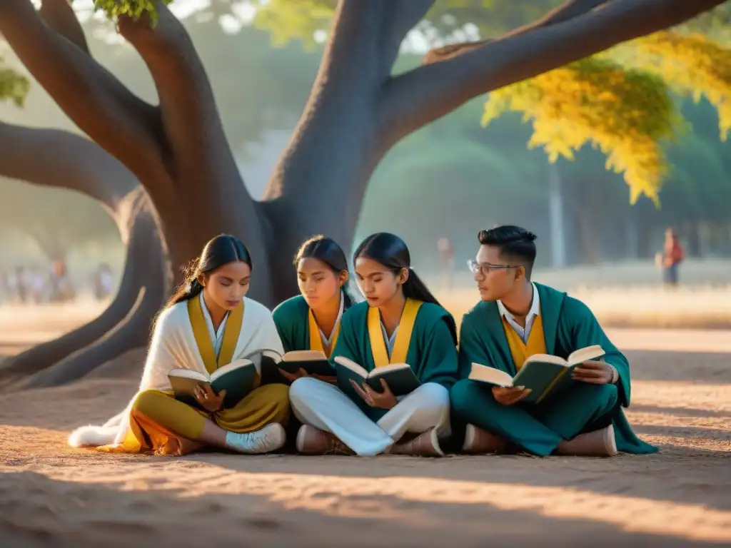
[[[607,156],[607,169],[624,173],[634,203],[656,203],[667,172],[662,142],[682,123],[661,77],[624,69],[608,58],[586,58],[493,91],[483,126],[506,111],[531,121],[529,148],[542,146],[549,161],[591,144]]]

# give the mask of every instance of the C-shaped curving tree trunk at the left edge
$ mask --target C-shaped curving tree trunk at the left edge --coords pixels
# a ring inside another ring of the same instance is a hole
[[[70,380],[74,371],[91,370],[145,345],[167,294],[168,276],[154,209],[134,175],[98,145],[68,132],[0,123],[0,142],[0,175],[98,199],[113,216],[127,247],[124,273],[111,305],[77,330],[5,360],[0,383],[26,382],[47,368],[55,373],[42,378]],[[59,373],[66,371],[65,377]]]

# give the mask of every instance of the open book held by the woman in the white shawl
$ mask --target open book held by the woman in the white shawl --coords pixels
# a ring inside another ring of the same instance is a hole
[[[167,373],[175,399],[200,409],[203,407],[195,399],[195,387],[210,384],[216,394],[225,389],[223,407],[232,408],[254,389],[257,376],[257,365],[249,358],[235,359],[211,375],[192,369],[173,369]]]

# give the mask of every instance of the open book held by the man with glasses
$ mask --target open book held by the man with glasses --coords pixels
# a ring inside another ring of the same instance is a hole
[[[549,394],[553,395],[571,384],[570,371],[583,362],[590,362],[604,356],[601,346],[586,346],[569,354],[567,359],[550,354],[533,354],[526,359],[515,377],[496,368],[473,363],[469,378],[473,381],[495,384],[498,387],[526,387],[531,393],[522,401],[540,403]]]

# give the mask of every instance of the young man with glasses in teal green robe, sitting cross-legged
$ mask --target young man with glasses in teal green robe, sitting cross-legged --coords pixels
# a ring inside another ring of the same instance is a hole
[[[530,452],[610,457],[652,453],[632,432],[629,363],[610,342],[583,302],[531,282],[536,236],[520,227],[482,230],[480,250],[469,267],[481,302],[465,314],[460,336],[463,380],[452,387],[452,412],[467,423],[463,452]],[[472,362],[515,376],[533,354],[566,358],[599,344],[601,362],[585,362],[567,391],[538,404],[521,404],[523,387],[491,387],[470,381]]]

